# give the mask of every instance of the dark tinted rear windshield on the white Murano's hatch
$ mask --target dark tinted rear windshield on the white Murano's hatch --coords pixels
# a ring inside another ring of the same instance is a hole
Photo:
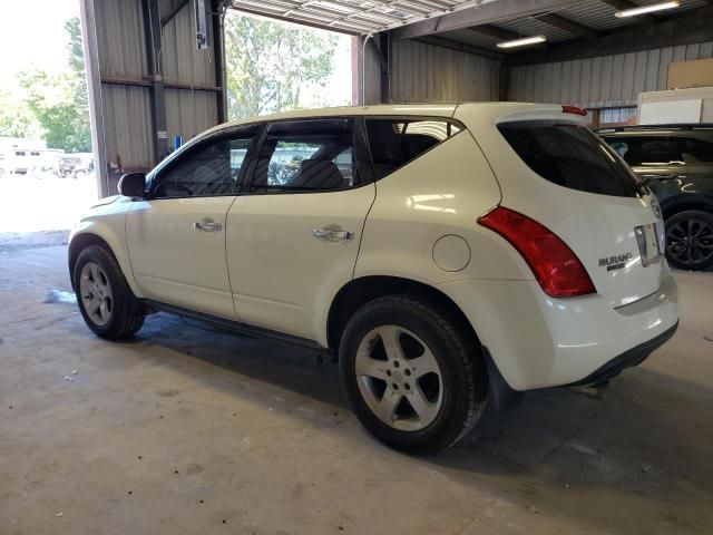
[[[531,120],[502,123],[498,129],[522,162],[549,182],[600,195],[637,195],[632,171],[585,126]]]

